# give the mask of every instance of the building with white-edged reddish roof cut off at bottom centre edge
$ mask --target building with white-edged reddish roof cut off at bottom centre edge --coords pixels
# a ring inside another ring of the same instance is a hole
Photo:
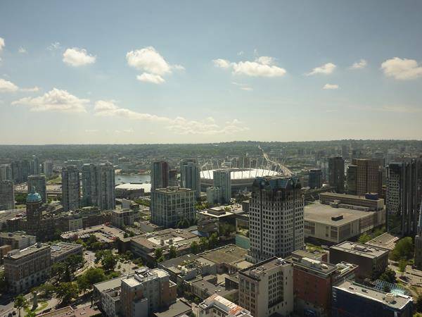
[[[250,311],[230,302],[228,299],[213,294],[198,305],[192,305],[196,317],[252,317]]]

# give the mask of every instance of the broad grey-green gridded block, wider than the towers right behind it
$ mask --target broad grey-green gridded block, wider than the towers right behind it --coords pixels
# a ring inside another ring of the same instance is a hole
[[[195,220],[195,193],[189,188],[167,187],[151,192],[151,218],[156,225],[174,228],[181,220]]]

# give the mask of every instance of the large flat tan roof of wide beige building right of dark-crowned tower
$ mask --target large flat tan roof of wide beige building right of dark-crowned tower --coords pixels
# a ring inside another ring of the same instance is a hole
[[[372,216],[375,211],[359,211],[346,208],[333,208],[330,205],[321,204],[315,201],[312,204],[305,206],[304,216],[305,221],[312,221],[314,223],[323,223],[325,225],[345,225],[354,220],[359,220],[366,216]],[[332,220],[331,217],[343,216],[343,219]]]

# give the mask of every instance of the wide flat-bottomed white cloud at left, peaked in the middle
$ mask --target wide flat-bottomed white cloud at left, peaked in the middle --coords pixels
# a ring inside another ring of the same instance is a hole
[[[13,105],[28,106],[31,111],[86,112],[89,99],[79,99],[66,90],[53,88],[40,97],[25,97]]]

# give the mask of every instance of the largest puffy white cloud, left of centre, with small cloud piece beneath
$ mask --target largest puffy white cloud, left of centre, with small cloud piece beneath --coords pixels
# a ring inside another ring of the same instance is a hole
[[[126,61],[129,66],[143,71],[141,75],[136,76],[138,80],[153,84],[165,82],[163,76],[171,74],[172,70],[184,70],[181,65],[168,63],[153,46],[127,52]]]

